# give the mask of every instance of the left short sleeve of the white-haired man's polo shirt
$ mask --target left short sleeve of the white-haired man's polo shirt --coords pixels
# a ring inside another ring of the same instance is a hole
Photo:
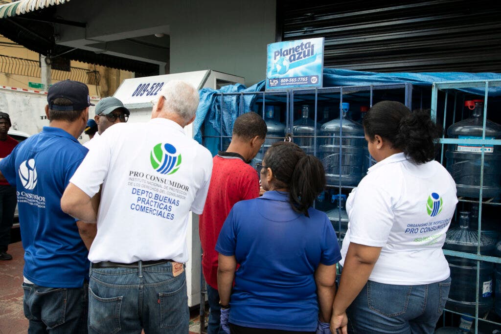
[[[97,194],[100,185],[104,182],[108,174],[113,147],[113,130],[113,127],[110,127],[105,133],[99,136],[99,145],[92,146],[92,149],[89,150],[80,167],[78,167],[70,179],[71,183],[80,188],[89,197]]]

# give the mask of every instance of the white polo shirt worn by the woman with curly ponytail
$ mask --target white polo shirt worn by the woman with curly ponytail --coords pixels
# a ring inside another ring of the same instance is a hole
[[[456,204],[454,180],[438,162],[416,165],[403,153],[378,162],[348,196],[340,263],[354,242],[382,247],[371,281],[416,285],[446,279],[442,245]]]

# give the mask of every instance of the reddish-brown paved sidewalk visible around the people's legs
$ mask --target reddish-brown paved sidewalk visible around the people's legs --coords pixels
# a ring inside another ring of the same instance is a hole
[[[9,254],[14,258],[0,261],[0,334],[21,334],[28,331],[28,320],[23,312],[23,266],[24,250],[20,242],[9,245]],[[200,331],[198,309],[190,315],[190,334]]]

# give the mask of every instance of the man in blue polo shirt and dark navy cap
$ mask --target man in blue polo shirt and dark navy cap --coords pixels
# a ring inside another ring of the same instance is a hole
[[[47,101],[49,126],[0,161],[0,178],[17,188],[29,332],[86,332],[87,255],[95,224],[75,221],[59,203],[87,154],[77,138],[92,104],[87,86],[71,80],[51,86]]]

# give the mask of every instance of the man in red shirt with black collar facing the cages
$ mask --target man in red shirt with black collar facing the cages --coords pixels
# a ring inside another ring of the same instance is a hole
[[[224,333],[219,328],[220,305],[217,293],[217,257],[215,245],[222,224],[238,201],[259,196],[258,173],[249,162],[265,142],[266,123],[257,113],[239,116],[233,125],[231,143],[226,152],[213,158],[212,176],[203,213],[199,219],[202,244],[202,270],[207,282],[209,323],[207,334]]]

